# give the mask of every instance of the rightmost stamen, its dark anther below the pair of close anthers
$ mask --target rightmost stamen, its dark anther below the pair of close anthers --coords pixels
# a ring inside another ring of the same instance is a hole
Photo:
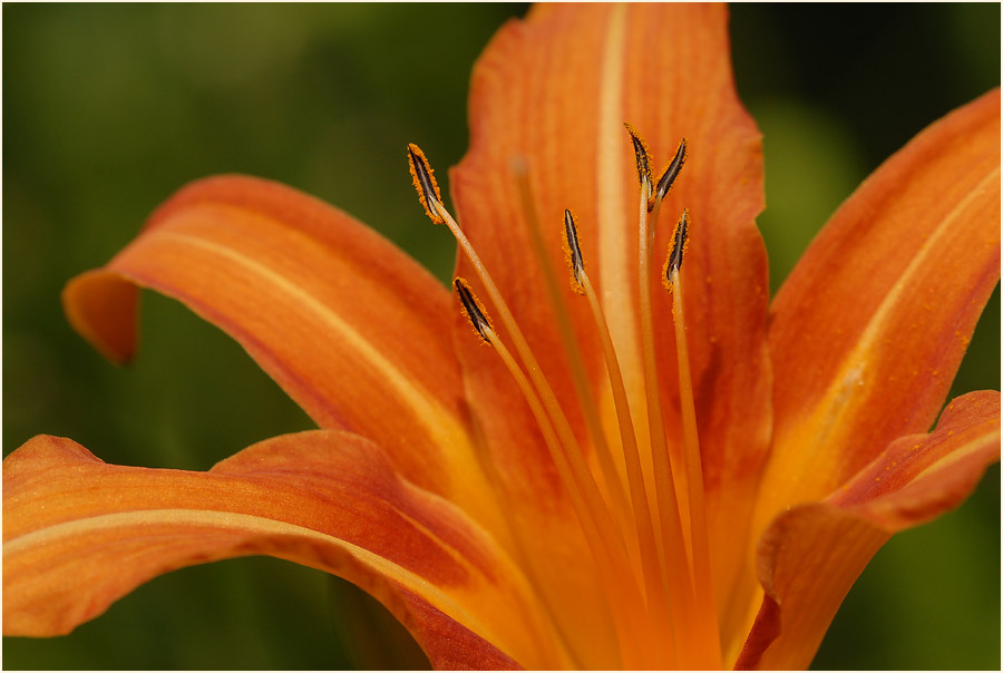
[[[690,350],[686,342],[683,315],[682,282],[679,273],[686,248],[689,216],[683,211],[675,226],[672,251],[665,260],[665,282],[672,293],[672,318],[675,324],[675,353],[679,363],[679,397],[682,412],[683,465],[686,472],[686,496],[690,503],[690,539],[693,548],[693,583],[700,622],[718,640],[718,616],[714,608],[713,586],[710,575],[710,548],[707,531],[707,510],[703,494],[703,468],[700,459],[700,441],[697,432],[697,410],[693,402],[693,383],[690,374]]]

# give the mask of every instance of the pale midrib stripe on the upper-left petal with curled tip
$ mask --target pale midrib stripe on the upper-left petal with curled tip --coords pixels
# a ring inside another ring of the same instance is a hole
[[[315,314],[343,343],[357,352],[362,360],[369,362],[372,369],[383,377],[388,388],[396,393],[396,397],[402,400],[405,406],[418,418],[428,435],[439,447],[447,450],[451,447],[469,445],[466,430],[456,422],[451,413],[439,404],[434,396],[416,386],[406,373],[402,373],[393,363],[387,360],[364,336],[339,318],[337,313],[328,309],[323,302],[289,281],[281,273],[233,248],[217,245],[197,236],[177,232],[156,232],[149,234],[149,236],[168,238],[185,245],[199,247],[226,257],[247,271],[264,277],[269,284],[286,294],[291,302],[298,303]],[[454,455],[452,457],[456,458],[457,456]]]

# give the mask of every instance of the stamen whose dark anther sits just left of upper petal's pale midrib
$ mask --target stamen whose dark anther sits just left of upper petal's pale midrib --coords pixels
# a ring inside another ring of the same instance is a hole
[[[658,545],[654,537],[654,526],[651,520],[651,506],[647,501],[647,492],[644,488],[644,476],[641,468],[641,455],[637,449],[637,438],[634,435],[634,422],[631,418],[630,403],[627,402],[626,389],[623,383],[623,374],[620,370],[620,363],[616,358],[616,351],[613,347],[613,339],[610,335],[610,328],[603,313],[602,304],[595,294],[588,274],[585,273],[584,261],[582,260],[581,248],[578,246],[578,236],[575,227],[574,217],[569,211],[564,212],[565,234],[567,236],[566,250],[574,251],[572,257],[576,257],[577,263],[572,264],[573,283],[577,282],[582,287],[582,293],[588,300],[592,308],[592,314],[598,330],[600,340],[603,345],[603,358],[606,363],[606,373],[610,378],[610,386],[613,391],[613,403],[616,409],[616,420],[620,425],[620,438],[623,446],[624,462],[626,465],[627,484],[631,489],[631,499],[634,513],[634,526],[637,530],[637,540],[641,552],[641,568],[644,575],[644,585],[649,601],[649,612],[652,621],[660,625],[660,630],[668,633],[674,633],[675,626],[672,623],[672,614],[669,609],[668,595],[663,584],[665,577],[665,568],[659,557]],[[664,624],[664,627],[661,626]],[[659,638],[659,645],[669,650],[663,655],[665,665],[676,667],[675,652],[672,647],[671,638]]]

